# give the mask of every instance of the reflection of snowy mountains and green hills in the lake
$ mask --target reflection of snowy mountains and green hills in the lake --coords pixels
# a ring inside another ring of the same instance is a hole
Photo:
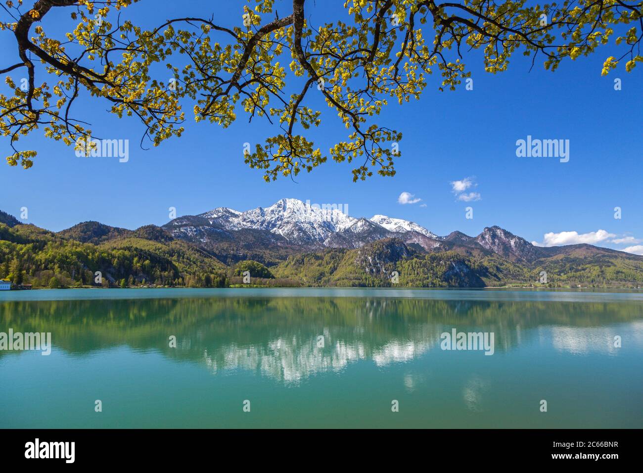
[[[0,331],[51,332],[55,348],[74,357],[127,345],[215,374],[246,370],[296,384],[360,360],[379,368],[410,362],[440,351],[440,334],[451,328],[493,332],[498,357],[532,342],[571,355],[616,356],[619,324],[633,324],[628,343],[643,344],[641,305],[379,297],[6,301]],[[470,409],[488,383],[469,380],[463,396]],[[412,391],[417,380],[408,375],[404,384]]]

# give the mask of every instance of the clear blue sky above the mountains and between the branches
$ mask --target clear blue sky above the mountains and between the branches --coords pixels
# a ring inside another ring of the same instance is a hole
[[[205,1],[161,5],[150,12],[149,2],[143,1],[123,15],[152,26],[179,15],[213,13],[217,21],[232,26],[239,23],[244,2],[226,2],[226,9],[217,11]],[[276,5],[280,16],[290,13],[287,3]],[[317,5],[312,11],[308,7],[312,23],[346,15],[342,8],[322,10],[321,3]],[[71,25],[68,12],[55,14],[59,28]],[[52,19],[55,15],[44,24],[48,32],[53,32]],[[15,59],[16,46],[6,32],[0,41],[1,64],[6,65]],[[440,235],[453,230],[475,235],[484,227],[500,225],[529,241],[543,242],[543,236],[553,232],[547,238],[550,244],[637,246],[637,240],[643,240],[643,66],[632,73],[619,67],[601,77],[603,60],[613,53],[613,46],[604,47],[593,57],[564,62],[555,73],[545,71],[541,60],[530,71],[530,60],[516,55],[509,71],[497,75],[485,73],[475,54],[465,60],[473,73],[471,91],[463,84],[455,92],[440,92],[436,71],[419,101],[391,105],[378,117],[378,124],[404,134],[397,174],[358,183],[352,182],[350,164],[331,160],[295,181],[265,183],[260,171],[244,164],[242,144],[262,142],[275,130],[260,120],[248,124],[243,113],[222,129],[195,124],[188,104],[183,136],[143,151],[138,147],[143,129],[136,120],[105,113],[105,102],[80,100],[77,115],[91,122],[96,134],[130,140],[129,162],[78,158],[72,147],[41,134],[30,136],[19,145],[39,151],[32,169],[0,164],[0,209],[19,216],[21,207],[28,207],[28,221],[50,230],[86,220],[136,228],[166,223],[168,207],[176,207],[178,215],[220,206],[248,210],[288,197],[345,204],[352,216],[409,219]],[[620,91],[613,88],[616,78],[622,80]],[[294,82],[297,90],[300,82]],[[8,86],[0,87],[8,91]],[[320,103],[313,95],[309,100],[311,106]],[[335,113],[321,110],[321,127],[307,136],[327,151],[347,133]],[[518,158],[516,140],[527,135],[569,140],[569,162]],[[3,147],[3,156],[10,154],[6,141]],[[466,178],[469,188],[454,193],[452,183]],[[398,201],[402,192],[421,201],[403,205]],[[479,194],[479,199],[458,199],[469,192]],[[465,218],[469,206],[473,219]],[[621,219],[614,218],[614,207],[621,207]],[[592,233],[598,230],[606,233]],[[557,235],[560,232],[588,235]]]

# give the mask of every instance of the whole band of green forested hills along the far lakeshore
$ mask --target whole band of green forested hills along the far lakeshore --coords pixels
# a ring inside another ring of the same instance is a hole
[[[275,254],[266,264],[249,260],[224,264],[215,256],[217,248],[207,250],[175,239],[154,225],[125,230],[87,222],[55,233],[5,221],[0,223],[0,279],[17,287],[640,288],[643,284],[643,258],[621,252],[574,250],[525,264],[467,250],[429,253],[399,239],[381,239],[357,249]],[[246,272],[249,280],[244,279]]]

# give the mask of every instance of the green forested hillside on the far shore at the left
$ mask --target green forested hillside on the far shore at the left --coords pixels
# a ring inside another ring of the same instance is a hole
[[[96,281],[96,272],[100,272],[100,283]],[[154,241],[126,236],[93,245],[60,237],[33,225],[10,228],[2,224],[0,278],[15,284],[50,288],[149,284],[219,287],[226,284],[222,263],[172,237]]]

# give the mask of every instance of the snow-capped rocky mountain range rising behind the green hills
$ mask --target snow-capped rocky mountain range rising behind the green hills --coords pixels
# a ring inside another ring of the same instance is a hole
[[[575,250],[613,252],[617,250],[592,245],[567,245],[543,248],[504,230],[485,227],[478,236],[452,232],[437,236],[415,222],[376,215],[373,218],[355,218],[338,209],[323,209],[298,199],[281,199],[270,207],[239,212],[217,209],[173,219],[163,225],[172,236],[216,252],[222,243],[235,242],[237,250],[253,248],[260,243],[263,249],[293,252],[323,248],[360,248],[385,238],[401,239],[406,245],[426,252],[460,250],[477,254],[497,254],[518,263],[534,261]],[[254,248],[258,250],[258,248]],[[243,258],[243,252],[236,254]],[[625,255],[625,254],[624,254]]]

